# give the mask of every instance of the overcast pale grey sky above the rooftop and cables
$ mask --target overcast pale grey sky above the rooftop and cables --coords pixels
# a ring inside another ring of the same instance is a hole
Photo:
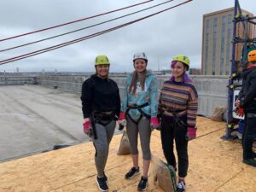
[[[3,61],[95,32],[101,32],[185,1],[173,0],[171,3],[143,11],[137,15],[127,16],[39,44],[0,52],[0,60]],[[143,0],[1,0],[0,39],[60,25],[92,15],[99,15],[113,9],[141,2]],[[0,50],[95,25],[96,23],[164,2],[166,1],[154,0],[113,14],[34,33],[22,38],[2,41],[0,42]],[[141,20],[96,38],[90,38],[78,44],[72,44],[41,55],[1,65],[0,72],[3,72],[3,70],[14,72],[17,67],[19,67],[20,72],[42,71],[43,69],[45,71],[90,72],[94,71],[94,59],[96,55],[100,54],[108,55],[112,72],[128,72],[133,69],[132,55],[138,51],[144,51],[148,55],[148,68],[153,70],[169,68],[172,56],[177,54],[188,55],[191,66],[199,68],[201,67],[202,15],[233,7],[234,3],[235,0],[193,0],[160,15]],[[240,0],[240,5],[241,9],[256,15],[255,0]]]

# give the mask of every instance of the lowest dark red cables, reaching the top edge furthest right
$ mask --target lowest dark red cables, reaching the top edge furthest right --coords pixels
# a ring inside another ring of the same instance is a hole
[[[19,55],[19,56],[15,56],[15,57],[9,58],[9,59],[7,59],[7,60],[0,61],[0,65],[3,65],[3,64],[12,62],[12,61],[18,61],[18,60],[21,60],[21,59],[25,59],[25,58],[31,57],[31,56],[33,56],[33,55],[42,54],[42,53],[48,52],[48,51],[50,51],[50,50],[60,49],[61,47],[65,47],[65,46],[67,46],[67,45],[69,45],[69,44],[75,44],[75,43],[78,43],[78,42],[80,42],[80,41],[84,41],[84,40],[89,39],[89,38],[94,38],[94,37],[99,36],[99,35],[102,35],[102,34],[104,34],[104,33],[117,30],[117,29],[119,29],[119,28],[121,28],[121,27],[129,26],[129,25],[131,25],[132,23],[135,23],[135,22],[137,22],[137,21],[145,20],[145,19],[147,19],[147,18],[149,18],[149,17],[152,17],[152,16],[154,16],[154,15],[158,15],[158,14],[160,14],[160,13],[166,12],[166,11],[169,10],[169,9],[176,8],[176,7],[178,7],[178,6],[182,5],[182,4],[189,3],[189,2],[191,2],[191,1],[192,1],[192,0],[188,0],[188,1],[183,2],[183,3],[179,3],[179,4],[175,5],[175,6],[172,6],[172,7],[167,8],[167,9],[163,9],[163,10],[161,10],[161,11],[159,11],[159,12],[154,13],[154,14],[147,15],[147,16],[142,17],[142,18],[137,19],[137,20],[131,20],[130,22],[127,22],[127,23],[125,23],[125,24],[122,24],[122,25],[119,25],[119,26],[114,26],[114,27],[112,27],[112,28],[109,28],[108,30],[104,30],[104,31],[102,31],[102,32],[96,32],[96,33],[93,33],[93,34],[91,34],[91,35],[84,36],[83,38],[77,38],[77,39],[74,39],[74,40],[72,40],[72,41],[68,41],[68,42],[63,43],[63,44],[57,44],[57,45],[54,45],[54,46],[51,46],[51,47],[45,48],[45,49],[38,49],[38,50],[36,50],[36,51],[27,53],[27,54],[25,54],[25,55]]]

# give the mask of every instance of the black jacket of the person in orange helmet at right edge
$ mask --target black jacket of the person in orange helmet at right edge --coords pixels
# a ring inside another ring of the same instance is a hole
[[[243,73],[242,89],[238,98],[246,113],[256,113],[256,67]]]

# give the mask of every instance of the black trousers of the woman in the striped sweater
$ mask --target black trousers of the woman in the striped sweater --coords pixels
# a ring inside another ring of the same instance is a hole
[[[186,123],[186,117],[180,117]],[[178,176],[186,177],[189,167],[188,140],[186,139],[187,128],[174,124],[171,117],[162,115],[160,123],[162,148],[167,163],[176,169],[176,159],[173,153],[173,140],[175,139],[177,150]]]

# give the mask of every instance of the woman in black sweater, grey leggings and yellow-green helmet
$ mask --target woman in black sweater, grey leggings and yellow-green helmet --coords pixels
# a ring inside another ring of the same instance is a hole
[[[102,191],[108,191],[108,177],[104,169],[116,125],[115,120],[120,111],[119,88],[108,78],[109,64],[106,55],[96,56],[96,74],[84,81],[81,96],[84,133],[91,137],[96,148],[96,183]]]

